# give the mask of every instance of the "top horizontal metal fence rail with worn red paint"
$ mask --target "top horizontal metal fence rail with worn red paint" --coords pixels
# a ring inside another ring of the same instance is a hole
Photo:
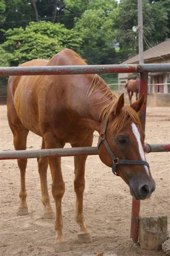
[[[170,64],[0,67],[0,76],[168,72]]]

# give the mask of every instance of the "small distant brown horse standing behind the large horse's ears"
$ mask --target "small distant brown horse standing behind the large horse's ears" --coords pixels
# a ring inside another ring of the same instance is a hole
[[[130,104],[132,103],[132,96],[133,96],[134,92],[136,94],[136,100],[138,100],[139,78],[137,78],[135,80],[134,79],[130,79],[126,83],[125,88],[127,89],[127,92],[128,92],[128,97],[129,97]]]

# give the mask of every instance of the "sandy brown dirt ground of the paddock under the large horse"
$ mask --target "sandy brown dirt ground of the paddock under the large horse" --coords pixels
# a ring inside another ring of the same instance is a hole
[[[146,142],[169,142],[169,109],[148,107]],[[98,135],[95,133],[94,146]],[[41,139],[30,133],[28,148],[40,148]],[[69,145],[68,145],[69,146]],[[13,150],[12,133],[8,127],[6,105],[1,106],[1,150]],[[169,214],[169,153],[150,153],[146,156],[156,191],[151,198],[141,202],[142,215]],[[63,157],[65,181],[63,197],[64,234],[70,246],[69,252],[55,253],[54,220],[41,218],[43,205],[36,159],[29,159],[26,174],[29,215],[18,216],[20,173],[16,160],[1,162],[1,255],[24,256],[163,256],[163,251],[141,250],[130,239],[131,201],[129,188],[121,178],[112,174],[98,156],[89,156],[86,165],[86,190],[84,192],[84,218],[93,242],[80,244],[77,240],[79,227],[74,221],[75,194],[73,190],[73,157]],[[48,189],[53,209],[54,200],[48,170]]]

